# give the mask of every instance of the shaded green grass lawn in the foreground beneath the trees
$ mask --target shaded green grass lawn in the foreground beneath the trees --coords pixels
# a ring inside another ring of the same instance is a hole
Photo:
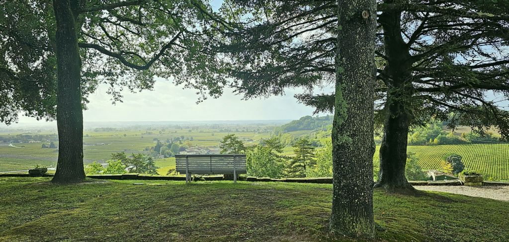
[[[327,241],[331,185],[0,178],[0,241]],[[133,185],[144,183],[144,185]],[[376,191],[376,241],[508,241],[509,202]]]

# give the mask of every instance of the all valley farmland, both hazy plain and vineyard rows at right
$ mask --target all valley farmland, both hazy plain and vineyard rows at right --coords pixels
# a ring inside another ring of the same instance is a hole
[[[125,128],[90,128],[84,130],[83,153],[84,163],[98,161],[104,163],[111,153],[126,152],[149,153],[157,140],[183,137],[192,146],[206,148],[219,147],[222,137],[235,133],[245,145],[255,145],[261,139],[267,139],[277,124],[222,124],[222,125],[188,125],[188,126],[135,126]],[[53,131],[54,132],[54,131]],[[53,134],[51,131],[40,131],[38,134]],[[0,136],[23,133],[0,132]],[[291,136],[309,135],[311,130],[288,132]],[[321,140],[330,139],[327,137]],[[58,142],[54,142],[58,146]],[[47,143],[46,143],[47,144]],[[40,164],[47,167],[56,165],[58,152],[56,149],[41,148],[42,143],[9,143],[0,142],[0,172],[22,170]],[[14,146],[14,147],[13,147]],[[378,161],[378,149],[374,160]],[[440,168],[442,157],[448,153],[456,153],[463,157],[467,169],[479,171],[487,180],[509,180],[509,144],[463,144],[463,145],[428,145],[409,146],[409,152],[416,153],[422,169]],[[287,146],[282,154],[292,155],[293,147]],[[165,175],[175,166],[175,158],[158,158],[158,172]]]

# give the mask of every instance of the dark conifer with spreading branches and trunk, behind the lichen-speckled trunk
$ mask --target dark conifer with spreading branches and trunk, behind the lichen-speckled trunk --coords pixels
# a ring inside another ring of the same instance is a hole
[[[333,112],[336,2],[230,2],[235,11],[224,13],[241,24],[221,50],[233,57],[236,92],[249,99],[299,87],[299,101]],[[385,137],[380,177],[389,187],[410,187],[404,176],[408,131],[432,118],[480,134],[495,126],[508,139],[509,112],[494,100],[509,98],[508,6],[378,1],[375,120]]]

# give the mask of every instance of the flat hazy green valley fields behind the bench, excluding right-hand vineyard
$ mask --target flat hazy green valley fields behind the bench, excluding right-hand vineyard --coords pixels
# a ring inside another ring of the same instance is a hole
[[[154,139],[164,142],[166,139],[174,137],[192,137],[190,143],[193,146],[200,146],[206,148],[219,147],[219,142],[224,135],[235,133],[244,141],[246,145],[258,144],[260,139],[270,137],[270,132],[254,131],[254,129],[261,129],[267,125],[256,126],[234,126],[230,129],[239,131],[220,131],[219,128],[195,128],[195,127],[181,127],[181,128],[159,128],[149,129],[128,128],[126,130],[118,131],[83,131],[83,158],[84,163],[91,163],[98,161],[100,163],[106,162],[111,156],[111,153],[126,152],[131,153],[144,153],[146,148],[153,147],[156,144]],[[224,127],[221,127],[224,129]],[[242,131],[245,130],[245,131]],[[15,135],[16,133],[0,133],[0,135]],[[49,132],[40,132],[39,134],[49,134]],[[124,135],[125,134],[125,135]],[[48,143],[46,143],[48,144]],[[0,172],[29,169],[36,164],[41,164],[46,167],[55,167],[58,151],[56,149],[43,149],[42,143],[14,143],[12,147],[8,143],[0,143]],[[55,142],[58,146],[58,142]],[[166,175],[168,169],[175,167],[175,158],[156,159],[156,165],[159,174]]]

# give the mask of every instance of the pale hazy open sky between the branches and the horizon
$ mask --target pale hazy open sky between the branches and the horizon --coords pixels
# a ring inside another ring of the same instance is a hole
[[[192,89],[182,89],[171,81],[157,79],[154,90],[138,93],[124,91],[123,101],[111,104],[107,86],[100,86],[90,95],[88,110],[83,120],[90,121],[194,121],[194,120],[274,120],[298,119],[312,115],[314,109],[306,107],[293,97],[301,90],[288,90],[285,96],[268,99],[241,100],[241,96],[225,90],[220,98],[208,98],[196,104],[198,96]],[[20,117],[20,122],[35,122]],[[42,121],[44,122],[44,121]]]

